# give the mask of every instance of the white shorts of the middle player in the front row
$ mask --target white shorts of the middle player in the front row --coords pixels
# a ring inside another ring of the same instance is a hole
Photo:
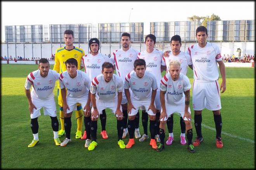
[[[97,106],[97,110],[98,110],[99,114],[102,114],[102,110],[107,109],[107,108],[111,109],[112,113],[115,114],[117,102],[118,102],[118,100],[114,100],[114,101],[112,100],[110,102],[102,102],[102,101],[96,99],[96,106]],[[93,112],[93,110],[94,109],[92,107],[92,112]],[[120,110],[122,111],[121,105],[120,105]],[[99,117],[99,116],[97,116],[97,117]],[[118,116],[116,115],[116,117],[118,117]]]

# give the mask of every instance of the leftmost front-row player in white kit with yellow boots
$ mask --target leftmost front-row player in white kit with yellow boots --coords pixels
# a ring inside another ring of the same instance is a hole
[[[34,136],[28,147],[34,147],[39,143],[38,139],[38,116],[41,115],[40,109],[43,107],[43,114],[49,115],[52,120],[55,145],[61,145],[58,137],[59,122],[56,115],[56,104],[54,101],[54,87],[59,74],[50,70],[50,64],[46,58],[41,58],[38,70],[29,73],[25,82],[25,93],[28,98],[29,112],[31,118],[31,129]],[[31,92],[29,88],[33,86]]]

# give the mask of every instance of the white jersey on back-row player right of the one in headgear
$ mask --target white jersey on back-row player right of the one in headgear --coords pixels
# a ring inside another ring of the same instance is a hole
[[[127,51],[123,49],[115,50],[111,55],[111,63],[116,65],[116,74],[121,77],[122,81],[125,80],[125,76],[130,73],[134,66],[133,63],[137,59],[138,51],[130,48]]]

